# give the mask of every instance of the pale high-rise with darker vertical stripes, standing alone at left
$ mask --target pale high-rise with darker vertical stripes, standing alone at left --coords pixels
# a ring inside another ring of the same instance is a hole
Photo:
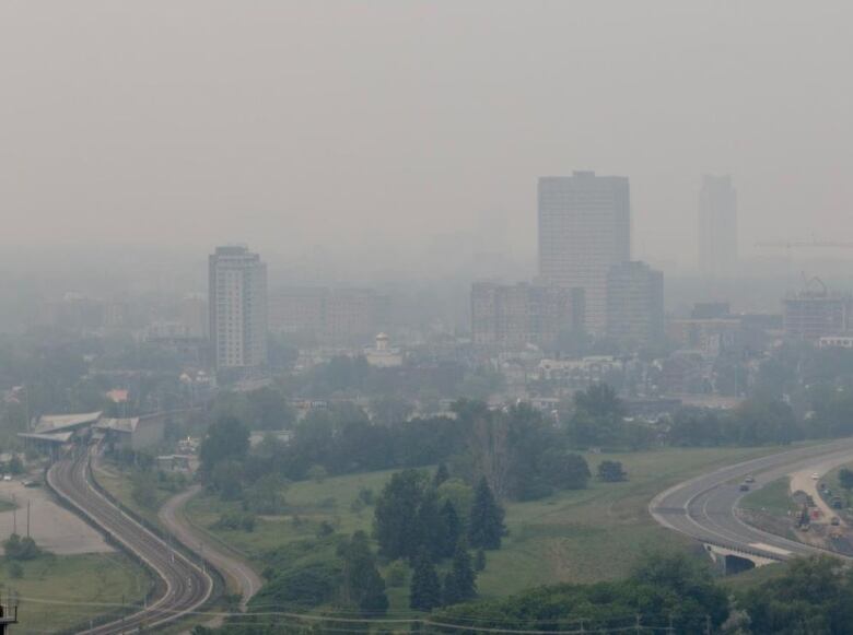
[[[267,266],[246,247],[217,247],[209,257],[210,339],[217,369],[267,363]]]

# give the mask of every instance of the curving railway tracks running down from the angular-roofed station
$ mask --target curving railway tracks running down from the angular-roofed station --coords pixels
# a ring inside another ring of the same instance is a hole
[[[114,635],[155,631],[201,609],[213,591],[213,578],[197,562],[173,549],[109,502],[91,483],[89,465],[94,448],[57,461],[48,470],[48,484],[95,526],[136,553],[159,576],[160,584],[147,608],[124,619],[81,631]]]

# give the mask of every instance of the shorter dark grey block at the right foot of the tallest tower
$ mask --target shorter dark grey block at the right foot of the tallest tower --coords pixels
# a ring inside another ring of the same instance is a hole
[[[663,272],[639,261],[610,268],[607,274],[607,337],[629,346],[663,341]]]

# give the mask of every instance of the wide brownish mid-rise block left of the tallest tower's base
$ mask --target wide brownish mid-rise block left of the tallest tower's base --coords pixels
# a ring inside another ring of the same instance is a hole
[[[584,293],[537,284],[475,282],[471,286],[474,343],[551,349],[563,333],[582,331]]]

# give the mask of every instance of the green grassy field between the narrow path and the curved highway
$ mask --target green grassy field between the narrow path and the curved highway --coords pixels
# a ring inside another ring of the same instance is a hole
[[[717,467],[776,451],[779,448],[663,449],[617,455],[586,455],[595,473],[605,459],[621,461],[629,480],[561,492],[529,503],[506,505],[510,531],[504,546],[489,552],[478,586],[483,597],[506,596],[560,581],[591,583],[615,579],[630,572],[645,551],[689,551],[696,544],[667,531],[647,514],[648,502],[666,487]],[[290,513],[259,518],[253,532],[212,529],[220,515],[238,509],[214,496],[200,496],[189,505],[189,517],[201,528],[234,546],[264,567],[267,549],[311,538],[319,522],[336,531],[370,531],[373,507],[354,510],[361,487],[382,491],[392,471],[329,478],[322,483],[299,482],[285,494]],[[389,589],[393,609],[406,608],[406,589]]]

